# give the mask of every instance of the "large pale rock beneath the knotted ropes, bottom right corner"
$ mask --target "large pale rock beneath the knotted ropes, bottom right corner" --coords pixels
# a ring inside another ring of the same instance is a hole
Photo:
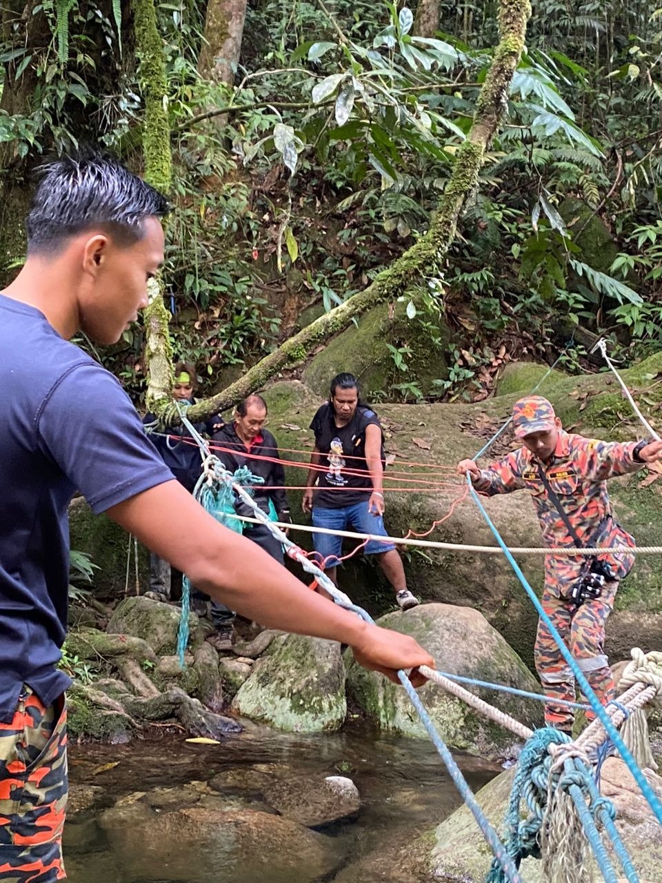
[[[650,770],[645,772],[658,796],[662,796],[662,779]],[[502,832],[508,811],[508,797],[515,770],[500,774],[480,789],[478,804],[497,832]],[[617,758],[608,758],[602,767],[601,790],[616,806],[616,826],[628,848],[642,879],[659,880],[662,867],[662,827],[654,819],[625,764]],[[431,871],[439,883],[484,883],[492,861],[478,825],[466,806],[460,807],[441,822],[435,832],[431,856]],[[616,867],[619,867],[616,864]],[[524,859],[520,871],[527,883],[545,883],[541,864],[535,858]]]

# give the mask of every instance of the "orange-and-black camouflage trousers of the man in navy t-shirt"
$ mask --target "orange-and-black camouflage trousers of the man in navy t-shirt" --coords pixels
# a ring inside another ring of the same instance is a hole
[[[67,801],[64,694],[45,708],[25,686],[13,720],[0,723],[0,880],[65,879]]]

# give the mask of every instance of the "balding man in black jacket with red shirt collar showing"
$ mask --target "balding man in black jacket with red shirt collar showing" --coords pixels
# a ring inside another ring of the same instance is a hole
[[[226,423],[212,436],[213,452],[229,472],[237,472],[240,466],[247,466],[253,475],[264,479],[264,490],[260,485],[252,487],[255,502],[267,515],[278,521],[290,522],[290,504],[284,490],[285,471],[282,468],[278,445],[274,436],[265,428],[267,403],[262,396],[252,395],[237,404],[234,419]],[[236,499],[237,515],[252,517],[251,507],[243,500]],[[252,525],[244,522],[244,537],[252,540],[282,564],[282,544],[267,530],[265,525]],[[210,643],[217,650],[228,650],[234,635],[235,614],[218,601],[213,601],[211,616],[216,628]]]

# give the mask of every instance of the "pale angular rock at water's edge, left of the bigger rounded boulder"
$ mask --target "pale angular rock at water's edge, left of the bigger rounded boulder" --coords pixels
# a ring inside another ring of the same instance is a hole
[[[340,645],[301,635],[275,638],[232,710],[293,733],[338,729],[347,713]]]

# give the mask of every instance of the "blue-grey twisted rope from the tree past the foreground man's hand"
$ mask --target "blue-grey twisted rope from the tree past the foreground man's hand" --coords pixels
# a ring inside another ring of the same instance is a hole
[[[196,440],[196,442],[198,442],[200,454],[205,459],[207,459],[208,450],[207,450],[207,444],[206,444],[205,440],[195,430],[195,428],[194,428],[194,426],[192,426],[191,422],[188,419],[186,419],[183,411],[180,411],[180,417],[182,419],[182,422],[184,423],[184,426],[186,426],[186,428],[192,434],[192,437]],[[226,469],[224,469],[224,467],[223,467],[221,461],[218,459],[218,457],[209,457],[209,461],[211,461],[214,464],[214,479],[216,479],[220,484],[224,483],[227,486],[231,487],[232,482],[234,481],[234,478]],[[205,480],[207,480],[207,476],[205,476]],[[303,552],[301,552],[301,550],[297,547],[297,545],[294,542],[292,542],[292,540],[290,540],[290,538],[287,537],[278,527],[276,527],[272,522],[270,522],[268,520],[267,516],[265,515],[264,512],[262,512],[260,507],[253,500],[251,500],[250,497],[247,499],[244,496],[244,494],[241,493],[241,488],[237,488],[237,493],[244,500],[244,502],[247,502],[250,506],[252,506],[253,513],[254,513],[255,517],[257,517],[260,520],[260,522],[267,525],[268,530],[275,536],[275,538],[277,540],[280,540],[282,542],[283,546],[287,547],[289,550],[296,551],[297,553],[299,553],[302,556],[303,560],[301,560],[301,564],[305,567],[305,570],[307,570],[307,572],[312,573],[315,576],[318,583],[324,589],[326,589],[327,592],[329,592],[329,594],[335,600],[336,604],[339,604],[341,607],[346,608],[346,609],[352,611],[353,613],[357,614],[363,620],[365,620],[366,623],[371,623],[372,625],[375,624],[371,615],[369,615],[363,608],[359,608],[359,607],[357,607],[356,604],[351,603],[351,601],[349,599],[347,599],[346,596],[342,595],[342,592],[338,591],[335,584],[333,582],[331,582],[331,580],[327,577],[327,575],[324,573],[323,570],[320,570],[320,568],[317,567],[316,564],[314,564],[313,562],[311,562],[307,558],[305,558],[305,555],[303,554]],[[180,660],[183,659],[183,651],[181,651],[181,639],[183,637],[181,623],[184,622],[184,619],[186,620],[185,628],[186,628],[186,634],[187,634],[188,633],[188,615],[184,616],[184,595],[183,595],[182,620],[180,621],[180,635],[179,635],[179,643],[178,643],[178,649],[180,649]],[[185,647],[185,645],[184,645],[184,647]],[[508,857],[507,850],[505,849],[503,843],[500,841],[499,835],[496,833],[493,826],[490,824],[489,819],[487,819],[487,817],[485,816],[485,813],[483,812],[480,805],[478,804],[478,801],[476,800],[475,796],[473,795],[473,793],[469,787],[469,784],[464,779],[462,771],[460,770],[460,767],[457,766],[457,764],[455,763],[455,758],[453,758],[453,755],[450,753],[450,751],[448,751],[448,746],[446,745],[446,743],[444,743],[443,739],[441,738],[441,736],[437,732],[437,729],[434,727],[433,721],[432,721],[429,713],[427,713],[425,706],[423,706],[423,703],[421,702],[420,698],[418,698],[418,694],[417,694],[416,690],[414,689],[414,687],[412,686],[408,675],[402,669],[398,671],[397,675],[400,680],[400,683],[402,683],[402,686],[404,687],[405,691],[407,692],[407,695],[409,696],[411,702],[413,703],[414,707],[416,708],[418,715],[420,716],[420,719],[423,722],[423,725],[424,725],[428,735],[432,739],[434,747],[437,749],[437,751],[440,754],[441,759],[443,760],[444,764],[446,765],[446,768],[448,769],[448,774],[450,775],[451,779],[455,783],[455,787],[458,789],[461,796],[463,797],[464,803],[467,804],[467,806],[469,807],[471,813],[473,814],[474,819],[476,819],[476,821],[478,822],[478,827],[480,828],[483,836],[485,837],[485,840],[489,843],[490,848],[493,851],[496,861],[500,864],[500,867],[503,869],[503,872],[506,875],[504,879],[507,879],[508,881],[510,881],[510,883],[523,883],[523,879],[520,876],[519,872],[517,871],[515,864],[513,864],[510,857]]]

